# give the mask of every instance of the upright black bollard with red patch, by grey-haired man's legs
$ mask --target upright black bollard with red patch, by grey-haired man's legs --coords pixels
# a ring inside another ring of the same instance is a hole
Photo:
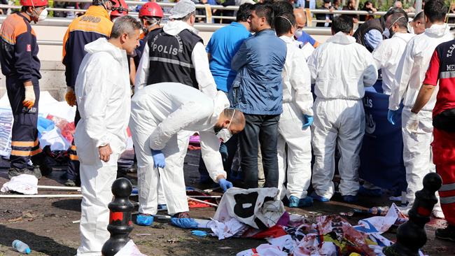
[[[126,178],[118,178],[112,183],[113,201],[109,203],[109,225],[107,230],[111,233],[101,250],[104,256],[113,256],[125,246],[130,238],[128,235],[133,230],[131,213],[134,210],[130,202],[133,185]]]

